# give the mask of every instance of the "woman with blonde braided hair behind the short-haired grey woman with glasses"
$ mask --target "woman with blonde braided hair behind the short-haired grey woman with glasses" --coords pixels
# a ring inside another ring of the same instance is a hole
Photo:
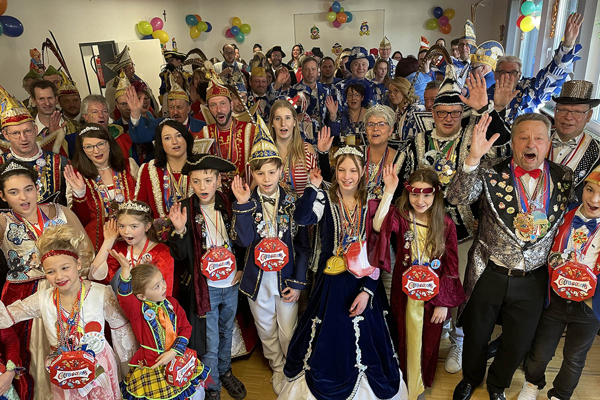
[[[392,137],[406,140],[415,136],[415,112],[425,111],[425,106],[419,103],[409,80],[403,77],[392,79],[388,85],[388,97],[390,107],[395,110],[397,116]]]

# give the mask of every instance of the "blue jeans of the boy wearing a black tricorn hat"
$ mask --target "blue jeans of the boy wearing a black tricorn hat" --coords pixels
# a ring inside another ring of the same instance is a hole
[[[206,354],[202,363],[211,368],[213,383],[208,389],[221,390],[219,375],[231,369],[233,320],[238,309],[238,285],[208,287],[211,311],[206,312]]]

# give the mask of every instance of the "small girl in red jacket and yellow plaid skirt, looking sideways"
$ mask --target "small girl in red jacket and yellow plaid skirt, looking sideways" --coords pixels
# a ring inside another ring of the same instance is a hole
[[[131,268],[130,261],[110,249],[119,260],[118,296],[121,308],[131,321],[141,347],[129,363],[121,383],[125,400],[184,400],[196,393],[196,386],[208,378],[210,368],[200,360],[184,386],[173,386],[166,378],[166,365],[187,350],[191,325],[177,300],[167,296],[163,274],[152,264]]]

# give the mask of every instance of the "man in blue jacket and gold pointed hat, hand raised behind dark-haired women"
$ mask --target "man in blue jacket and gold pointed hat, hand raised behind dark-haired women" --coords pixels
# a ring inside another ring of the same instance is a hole
[[[184,89],[175,82],[173,75],[170,75],[169,79],[171,80],[171,91],[167,95],[169,118],[184,124],[194,138],[200,137],[200,132],[202,128],[206,127],[206,123],[190,117],[190,98]],[[133,140],[133,143],[151,143],[154,140],[158,124],[164,119],[164,117],[148,119],[142,116],[144,97],[142,95],[140,98],[137,98],[136,89],[133,86],[127,88],[125,92],[125,98],[131,109],[129,136]],[[140,119],[143,122],[140,122]]]

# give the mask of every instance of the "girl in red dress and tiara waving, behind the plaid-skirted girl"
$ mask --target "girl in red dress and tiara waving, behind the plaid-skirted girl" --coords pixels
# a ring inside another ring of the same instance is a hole
[[[152,210],[142,201],[119,204],[116,220],[104,224],[104,242],[92,263],[90,278],[110,282],[116,292],[119,278],[119,261],[109,254],[109,249],[124,254],[134,267],[142,263],[155,264],[163,273],[167,295],[173,294],[173,257],[169,248],[159,239],[152,225]],[[117,240],[121,236],[123,240]]]

